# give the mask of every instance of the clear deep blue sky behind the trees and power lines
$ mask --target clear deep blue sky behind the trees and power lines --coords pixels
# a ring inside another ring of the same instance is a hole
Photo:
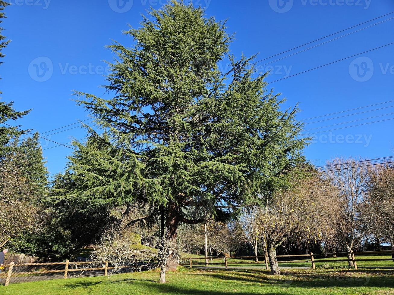
[[[18,110],[32,109],[28,116],[19,120],[19,124],[42,133],[87,118],[87,113],[72,101],[72,90],[102,96],[103,90],[99,86],[105,84],[104,60],[111,61],[113,58],[104,46],[110,44],[111,39],[132,45],[132,40],[122,35],[122,30],[128,28],[127,24],[138,27],[141,13],[145,13],[150,5],[160,8],[164,0],[9,2],[12,5],[6,8],[8,18],[3,26],[6,29],[4,34],[12,42],[4,50],[6,57],[2,59],[4,64],[0,67],[2,99],[15,101]],[[236,39],[230,46],[232,54],[240,57],[241,53],[259,53],[258,59],[394,11],[392,0],[193,0],[193,3],[206,6],[206,14],[215,16],[217,20],[228,18],[229,33],[236,33]],[[394,14],[362,27],[391,17]],[[270,64],[274,71],[267,81],[297,74],[391,42],[394,42],[394,19],[274,62]],[[341,61],[270,86],[287,98],[286,106],[299,104],[300,120],[394,100],[393,52],[394,44],[361,55],[362,59]],[[261,69],[269,70],[266,66]],[[394,106],[394,102],[342,115],[390,106]],[[385,120],[394,118],[392,113],[394,107],[308,124],[305,129],[372,116],[379,117],[309,132]],[[390,156],[394,148],[393,127],[394,120],[388,120],[331,131],[331,135],[329,132],[318,133],[318,137],[305,150],[305,155],[316,165],[338,156]],[[50,139],[67,143],[71,137],[79,139],[85,136],[83,129],[75,128],[52,135]],[[45,140],[41,140],[41,144],[44,149],[56,145]],[[61,171],[70,153],[71,149],[66,147],[44,150],[50,173]]]

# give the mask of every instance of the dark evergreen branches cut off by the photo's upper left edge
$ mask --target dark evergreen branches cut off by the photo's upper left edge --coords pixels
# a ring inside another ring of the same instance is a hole
[[[9,3],[0,0],[0,24],[3,22],[3,18],[6,18],[6,15],[4,14],[3,10],[6,6],[8,6]],[[2,35],[3,28],[0,27],[0,57],[4,57],[4,53],[2,53],[2,50],[8,45],[10,40],[4,41],[6,37]],[[3,62],[0,62],[0,65]],[[1,94],[2,92],[0,92]],[[4,123],[8,120],[17,120],[21,118],[22,116],[28,114],[29,111],[24,111],[24,112],[17,112],[13,108],[13,102],[5,103],[3,101],[0,101],[0,123]],[[7,147],[7,144],[12,138],[19,137],[21,134],[23,134],[22,131],[18,130],[15,127],[6,127],[6,126],[0,126],[0,158],[3,157],[4,152],[6,150],[9,150],[9,147]]]

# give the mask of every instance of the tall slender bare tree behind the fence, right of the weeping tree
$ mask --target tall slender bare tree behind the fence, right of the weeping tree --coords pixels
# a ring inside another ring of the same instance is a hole
[[[336,218],[338,238],[346,251],[355,250],[367,232],[368,220],[362,211],[366,208],[370,170],[368,167],[358,167],[360,165],[353,158],[334,159],[327,164],[333,166],[324,173],[324,177],[336,187],[336,200],[340,204]],[[352,267],[351,254],[348,258],[349,267]]]

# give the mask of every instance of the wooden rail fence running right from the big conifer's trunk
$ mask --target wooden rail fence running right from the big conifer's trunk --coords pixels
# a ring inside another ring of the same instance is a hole
[[[350,257],[346,257],[345,259],[315,259],[316,256],[333,256],[333,255],[348,255],[351,254]],[[392,250],[387,250],[387,251],[364,251],[364,252],[358,252],[358,251],[349,251],[349,252],[337,252],[337,253],[322,253],[322,254],[313,254],[312,252],[310,254],[294,254],[294,255],[277,255],[277,258],[289,258],[291,257],[308,257],[308,259],[305,261],[303,260],[279,260],[278,264],[281,263],[300,263],[300,262],[309,262],[311,264],[312,269],[316,269],[315,263],[316,262],[353,262],[353,266],[355,269],[357,269],[357,261],[387,261],[387,260],[394,260],[394,258],[367,258],[367,259],[357,259],[355,255],[375,255],[375,254],[392,254],[394,257],[394,251]],[[265,266],[266,269],[268,269],[268,257],[267,256],[214,256],[214,257],[183,257],[183,260],[189,260],[189,267],[191,268],[193,265],[193,260],[205,260],[205,262],[196,262],[194,265],[223,265],[225,269],[228,269],[228,264],[256,264],[259,262],[255,261],[242,261],[242,262],[228,262],[228,259],[243,259],[243,258],[264,258]],[[209,262],[209,260],[212,259],[223,259],[223,262]],[[260,262],[261,263],[261,262]],[[186,264],[183,264],[186,265]]]

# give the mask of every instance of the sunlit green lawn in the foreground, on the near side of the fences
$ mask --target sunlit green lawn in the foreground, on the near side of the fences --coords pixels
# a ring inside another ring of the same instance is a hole
[[[70,278],[0,286],[0,294],[394,294],[394,270],[188,269],[167,273],[159,284],[158,269],[112,277]]]

